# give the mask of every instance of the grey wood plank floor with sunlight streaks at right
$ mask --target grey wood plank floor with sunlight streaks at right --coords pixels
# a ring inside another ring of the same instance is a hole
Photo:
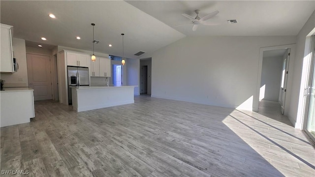
[[[255,113],[141,95],[134,104],[76,113],[38,101],[30,123],[0,129],[1,170],[28,170],[27,177],[314,177],[314,148],[277,106],[263,102]]]

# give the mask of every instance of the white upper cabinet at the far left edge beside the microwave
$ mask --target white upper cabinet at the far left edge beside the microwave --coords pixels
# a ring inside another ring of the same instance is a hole
[[[12,50],[12,34],[9,25],[1,24],[1,58],[0,72],[13,73],[13,50]]]

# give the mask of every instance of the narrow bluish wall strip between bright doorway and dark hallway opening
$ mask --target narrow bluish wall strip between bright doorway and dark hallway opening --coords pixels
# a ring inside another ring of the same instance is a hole
[[[140,59],[126,59],[127,65],[127,85],[138,86],[134,87],[134,94],[140,95],[139,81],[140,81]]]

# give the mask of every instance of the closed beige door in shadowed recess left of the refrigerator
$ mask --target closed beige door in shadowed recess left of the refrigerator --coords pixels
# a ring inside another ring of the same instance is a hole
[[[27,54],[29,87],[34,89],[34,100],[52,99],[50,57]]]

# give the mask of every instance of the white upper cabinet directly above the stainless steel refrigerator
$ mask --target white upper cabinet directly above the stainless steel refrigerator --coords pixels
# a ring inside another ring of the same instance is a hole
[[[81,67],[89,67],[89,58],[88,54],[79,54],[74,52],[66,52],[67,56],[67,65],[68,66],[81,66]]]

